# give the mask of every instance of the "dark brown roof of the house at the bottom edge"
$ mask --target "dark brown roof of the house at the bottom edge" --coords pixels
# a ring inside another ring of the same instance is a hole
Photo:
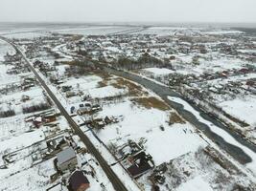
[[[78,190],[81,184],[90,183],[89,180],[83,175],[82,171],[75,171],[70,179],[69,183],[73,190]]]

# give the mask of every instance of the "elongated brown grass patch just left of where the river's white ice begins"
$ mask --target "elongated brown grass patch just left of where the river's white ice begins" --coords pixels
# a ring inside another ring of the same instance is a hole
[[[170,110],[170,107],[164,101],[153,96],[132,98],[131,101],[136,102],[147,109],[155,108],[162,111]]]

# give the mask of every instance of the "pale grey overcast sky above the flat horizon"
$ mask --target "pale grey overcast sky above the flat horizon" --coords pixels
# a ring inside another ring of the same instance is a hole
[[[256,23],[256,0],[0,0],[0,21]]]

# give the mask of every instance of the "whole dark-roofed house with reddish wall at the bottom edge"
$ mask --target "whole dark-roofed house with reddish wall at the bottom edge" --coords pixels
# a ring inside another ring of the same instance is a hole
[[[72,191],[85,191],[90,187],[90,182],[83,175],[82,171],[75,171],[68,180],[69,190]]]

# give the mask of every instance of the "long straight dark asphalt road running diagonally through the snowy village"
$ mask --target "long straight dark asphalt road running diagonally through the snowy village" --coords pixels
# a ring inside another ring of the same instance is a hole
[[[93,143],[90,141],[90,139],[84,135],[84,133],[81,131],[79,125],[73,120],[72,117],[69,116],[69,114],[66,112],[65,108],[61,105],[61,103],[58,101],[58,98],[54,95],[54,93],[50,90],[50,88],[46,85],[45,81],[40,77],[39,74],[35,71],[35,68],[33,65],[28,61],[24,53],[22,53],[19,48],[14,45],[10,40],[6,39],[5,37],[0,37],[0,39],[8,42],[12,45],[12,47],[16,50],[17,53],[20,53],[23,57],[23,59],[26,61],[28,67],[31,69],[31,71],[35,74],[35,77],[43,87],[43,89],[48,93],[48,95],[52,98],[52,100],[55,102],[55,104],[58,107],[58,110],[60,113],[66,118],[70,126],[73,128],[74,132],[81,138],[81,141],[85,144],[89,152],[98,160],[101,167],[105,171],[105,175],[107,176],[108,180],[111,181],[113,187],[117,191],[128,191],[124,183],[117,177],[117,175],[114,173],[114,171],[111,169],[111,167],[107,164],[103,156],[100,154],[100,152],[96,149],[96,147],[93,145]]]

